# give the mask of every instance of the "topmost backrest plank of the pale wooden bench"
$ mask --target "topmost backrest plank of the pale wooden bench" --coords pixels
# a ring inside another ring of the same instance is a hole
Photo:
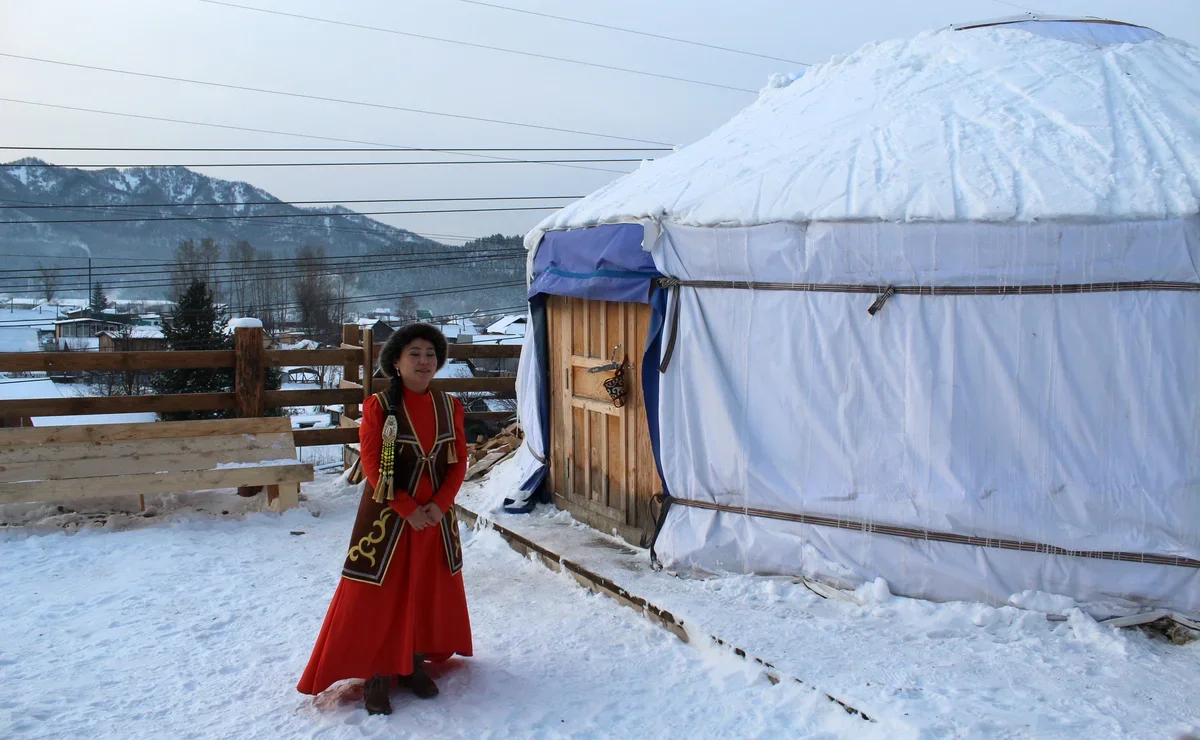
[[[73,427],[25,427],[0,429],[0,452],[26,445],[104,444],[149,439],[270,434],[292,432],[292,420],[211,419],[204,421],[149,421],[142,423],[82,425]]]

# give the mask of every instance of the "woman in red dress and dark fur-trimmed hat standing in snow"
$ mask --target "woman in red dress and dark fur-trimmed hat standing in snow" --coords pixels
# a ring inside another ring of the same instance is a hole
[[[379,371],[391,387],[362,404],[359,456],[367,486],[325,624],[296,688],[317,694],[366,679],[370,714],[391,714],[391,676],[438,694],[425,661],[469,656],[470,621],[454,499],[467,471],[463,409],[430,389],[446,338],[409,324],[388,339]]]

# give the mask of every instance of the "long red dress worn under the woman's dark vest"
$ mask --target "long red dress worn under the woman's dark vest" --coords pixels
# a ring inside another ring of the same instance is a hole
[[[404,389],[404,404],[421,445],[431,449],[436,433],[433,397]],[[458,462],[446,469],[445,481],[436,493],[427,475],[421,477],[412,498],[397,492],[390,505],[402,517],[431,500],[442,511],[454,505],[467,474],[462,404],[455,402],[454,407]],[[379,402],[368,398],[362,404],[359,455],[372,487],[379,476],[383,421]],[[296,688],[317,694],[342,679],[370,679],[377,673],[409,675],[414,654],[425,654],[426,660],[434,662],[455,654],[472,654],[462,573],[450,574],[438,527],[420,531],[404,528],[382,584],[341,579]]]

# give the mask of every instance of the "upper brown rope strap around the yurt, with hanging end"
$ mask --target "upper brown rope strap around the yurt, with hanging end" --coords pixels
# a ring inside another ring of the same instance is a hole
[[[866,313],[875,315],[893,295],[1072,295],[1081,293],[1127,293],[1135,290],[1200,291],[1200,283],[1141,281],[1129,283],[1067,283],[1048,285],[862,285],[852,283],[770,283],[754,281],[685,281],[660,277],[659,287],[671,290],[671,331],[662,349],[659,372],[667,372],[679,333],[679,289],[718,288],[722,290],[794,290],[799,293],[859,293],[877,295]]]

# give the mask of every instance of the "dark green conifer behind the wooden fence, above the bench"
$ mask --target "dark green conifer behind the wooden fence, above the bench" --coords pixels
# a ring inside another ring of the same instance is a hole
[[[202,281],[193,279],[175,306],[170,321],[163,324],[167,347],[173,350],[232,349],[233,337],[223,331],[212,291]],[[156,393],[227,393],[234,387],[234,371],[221,367],[197,367],[163,371],[154,380]],[[188,419],[221,419],[233,411],[174,411],[161,414],[164,421]]]

